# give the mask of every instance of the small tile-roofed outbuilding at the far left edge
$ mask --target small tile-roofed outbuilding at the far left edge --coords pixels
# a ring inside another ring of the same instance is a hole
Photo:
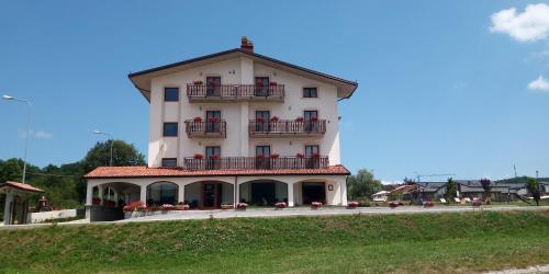
[[[3,212],[4,225],[21,225],[27,222],[29,198],[44,191],[30,184],[7,181],[0,183],[0,193],[5,193]]]

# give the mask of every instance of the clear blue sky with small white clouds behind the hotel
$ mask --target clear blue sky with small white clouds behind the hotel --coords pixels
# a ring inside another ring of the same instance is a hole
[[[519,175],[549,176],[542,1],[0,3],[0,93],[33,102],[38,165],[81,159],[102,138],[96,128],[146,153],[148,105],[127,73],[247,35],[259,54],[359,82],[340,103],[354,172],[501,179],[515,163]],[[0,159],[22,157],[24,115],[0,101]]]

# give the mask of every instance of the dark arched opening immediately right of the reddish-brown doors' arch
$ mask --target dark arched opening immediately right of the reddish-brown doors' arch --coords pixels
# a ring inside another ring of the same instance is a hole
[[[239,201],[256,206],[288,203],[288,184],[274,180],[256,180],[240,184]]]

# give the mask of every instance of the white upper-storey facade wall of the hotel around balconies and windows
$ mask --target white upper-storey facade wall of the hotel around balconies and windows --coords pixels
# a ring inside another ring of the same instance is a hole
[[[254,83],[254,77],[268,76],[271,81],[284,84],[285,99],[283,103],[189,103],[187,84],[193,80],[205,81],[206,76],[221,76],[223,84]],[[166,87],[180,89],[179,102],[164,102]],[[304,87],[316,87],[318,98],[302,98]],[[222,112],[222,118],[227,122],[226,138],[188,138],[183,122],[197,116],[204,117],[209,110]],[[281,119],[294,119],[303,116],[305,110],[316,110],[320,119],[327,121],[326,134],[321,137],[304,138],[249,138],[248,121],[255,116],[256,110],[269,110],[272,116],[279,116]],[[222,157],[254,156],[255,146],[261,144],[271,145],[271,151],[280,156],[295,156],[298,152],[304,152],[305,145],[318,145],[321,155],[329,157],[329,164],[340,163],[336,87],[255,64],[249,58],[235,58],[154,78],[149,115],[149,167],[160,167],[161,158],[178,158],[178,164],[181,165],[182,158],[204,153],[206,146],[221,146]],[[179,136],[163,137],[164,122],[178,122]]]

